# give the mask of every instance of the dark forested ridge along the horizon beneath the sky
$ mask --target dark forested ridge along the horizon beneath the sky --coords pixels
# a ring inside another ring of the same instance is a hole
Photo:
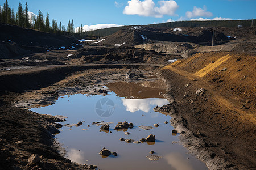
[[[150,25],[141,25],[146,27],[237,27],[238,25],[242,25],[243,27],[250,27],[251,26],[251,19],[250,20],[210,20],[210,21],[177,21],[177,22],[170,22],[167,23],[160,23],[160,24],[150,24]],[[256,26],[256,19],[253,20],[253,26]],[[122,26],[122,27],[113,27],[113,28],[104,28],[92,31],[93,35],[96,36],[109,36],[113,33],[121,30],[126,29],[130,26]]]

